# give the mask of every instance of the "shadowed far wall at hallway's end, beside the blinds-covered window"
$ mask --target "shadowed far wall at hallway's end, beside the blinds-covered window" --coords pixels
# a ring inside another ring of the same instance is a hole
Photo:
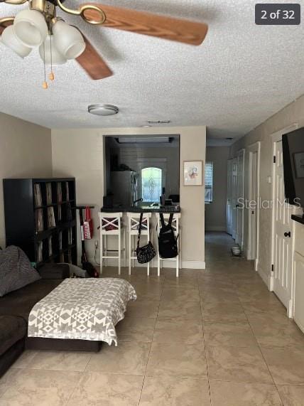
[[[213,162],[213,201],[205,205],[205,228],[226,231],[228,146],[207,146],[206,162]]]

